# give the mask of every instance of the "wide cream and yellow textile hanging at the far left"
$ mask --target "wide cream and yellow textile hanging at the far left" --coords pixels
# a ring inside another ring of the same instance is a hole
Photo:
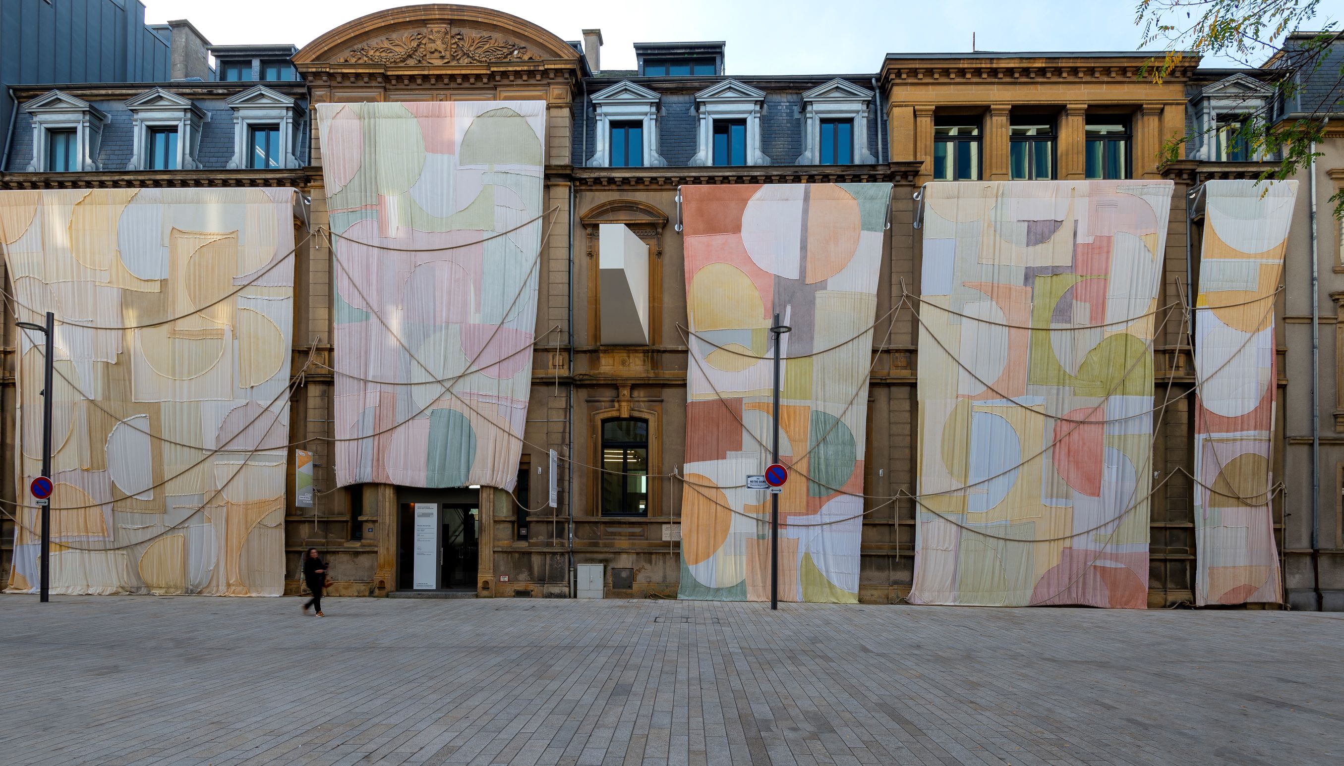
[[[19,320],[56,316],[51,593],[280,595],[294,189],[0,192]],[[42,472],[19,331],[19,497]],[[9,589],[39,582],[20,508]]]

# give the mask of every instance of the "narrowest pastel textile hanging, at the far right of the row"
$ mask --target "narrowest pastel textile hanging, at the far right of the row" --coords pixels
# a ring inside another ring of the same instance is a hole
[[[1274,519],[1274,296],[1297,181],[1204,184],[1195,304],[1195,603],[1284,599]]]

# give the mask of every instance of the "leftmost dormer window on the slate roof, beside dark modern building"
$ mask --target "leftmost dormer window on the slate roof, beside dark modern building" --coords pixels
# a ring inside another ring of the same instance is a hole
[[[52,90],[24,105],[32,116],[32,161],[27,172],[97,171],[108,116],[87,101]]]

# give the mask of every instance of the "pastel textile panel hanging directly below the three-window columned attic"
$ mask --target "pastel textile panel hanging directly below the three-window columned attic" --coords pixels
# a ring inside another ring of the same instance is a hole
[[[1146,606],[1171,195],[925,187],[913,603]]]

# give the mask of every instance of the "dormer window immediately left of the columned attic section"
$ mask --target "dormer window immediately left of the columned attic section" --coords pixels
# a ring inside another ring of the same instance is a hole
[[[872,91],[847,79],[832,79],[802,94],[804,152],[800,165],[867,165]]]

